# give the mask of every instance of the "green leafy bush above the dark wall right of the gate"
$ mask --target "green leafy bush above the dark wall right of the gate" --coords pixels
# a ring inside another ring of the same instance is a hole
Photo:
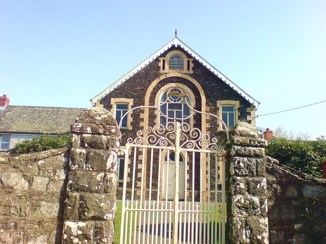
[[[265,153],[292,169],[323,177],[321,163],[326,161],[326,140],[324,137],[317,138],[317,141],[300,139],[288,141],[286,138],[274,137],[268,143]]]

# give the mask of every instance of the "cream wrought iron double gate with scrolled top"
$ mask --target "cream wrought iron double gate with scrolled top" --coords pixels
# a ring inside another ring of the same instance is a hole
[[[224,148],[172,119],[128,139],[120,243],[225,242]]]

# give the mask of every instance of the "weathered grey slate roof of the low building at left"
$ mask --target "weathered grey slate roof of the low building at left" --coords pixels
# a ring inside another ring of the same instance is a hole
[[[63,134],[85,109],[8,105],[1,110],[0,133]]]

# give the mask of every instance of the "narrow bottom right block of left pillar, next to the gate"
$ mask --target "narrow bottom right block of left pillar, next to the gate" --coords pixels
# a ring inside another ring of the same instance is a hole
[[[114,236],[113,221],[96,221],[94,228],[94,243],[112,243]]]

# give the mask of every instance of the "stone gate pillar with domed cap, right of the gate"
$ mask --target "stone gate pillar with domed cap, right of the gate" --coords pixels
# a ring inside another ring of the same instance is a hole
[[[269,243],[265,149],[254,126],[240,122],[227,145],[226,194],[229,243]]]

